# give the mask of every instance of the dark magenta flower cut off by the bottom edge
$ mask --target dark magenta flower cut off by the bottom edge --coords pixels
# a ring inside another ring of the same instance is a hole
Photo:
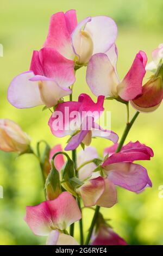
[[[100,225],[91,237],[91,245],[127,245],[127,243],[112,228]]]

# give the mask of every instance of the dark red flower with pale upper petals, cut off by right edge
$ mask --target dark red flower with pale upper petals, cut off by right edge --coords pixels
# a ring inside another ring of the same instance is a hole
[[[153,62],[146,69],[154,75],[142,87],[142,93],[131,101],[131,105],[139,112],[149,113],[157,109],[163,99],[163,45],[152,52]]]

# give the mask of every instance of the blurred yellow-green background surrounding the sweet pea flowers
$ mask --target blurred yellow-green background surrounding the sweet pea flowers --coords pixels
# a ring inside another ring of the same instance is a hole
[[[45,41],[49,17],[68,9],[77,10],[78,21],[90,15],[108,15],[116,21],[118,73],[121,78],[139,50],[146,51],[150,61],[152,50],[163,41],[162,0],[1,0],[0,43],[4,47],[4,57],[0,58],[0,118],[9,118],[20,124],[32,138],[33,147],[40,139],[46,139],[51,146],[62,143],[64,147],[67,138],[52,136],[47,125],[48,110],[42,112],[42,107],[22,110],[12,107],[7,101],[7,88],[14,76],[29,69],[32,51],[39,50]],[[77,72],[73,95],[76,100],[80,93],[90,93],[85,82],[85,71],[82,68]],[[105,109],[111,111],[112,130],[121,136],[126,121],[125,106],[106,101]],[[163,245],[163,199],[158,197],[158,187],[163,185],[162,111],[161,105],[151,114],[140,114],[127,138],[127,142],[139,140],[153,148],[154,158],[142,163],[148,169],[153,188],[147,188],[141,194],[118,188],[118,204],[103,210],[104,216],[111,218],[114,230],[130,245]],[[102,156],[103,149],[111,143],[95,139],[92,145]],[[1,152],[0,157],[0,185],[4,188],[4,198],[0,199],[0,244],[45,243],[46,237],[34,236],[23,221],[26,205],[35,205],[43,200],[39,163],[32,155],[16,157],[16,154]],[[92,211],[84,210],[84,216],[87,230]]]

